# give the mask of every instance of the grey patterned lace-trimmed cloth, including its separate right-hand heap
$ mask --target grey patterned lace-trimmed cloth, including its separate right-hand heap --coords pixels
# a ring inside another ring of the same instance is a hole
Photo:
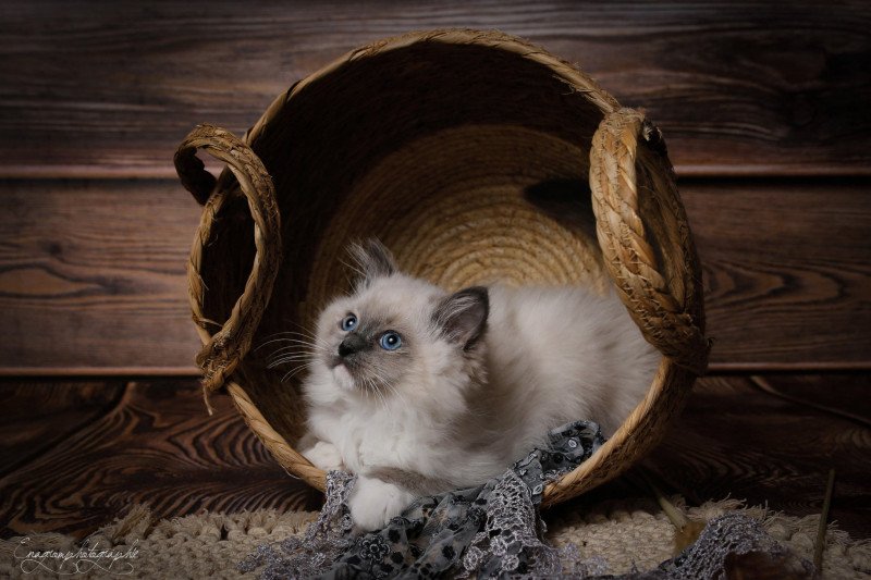
[[[347,497],[355,478],[327,474],[327,503],[302,536],[261,544],[238,565],[266,580],[285,578],[566,578],[689,580],[734,577],[740,566],[776,570],[771,578],[813,578],[813,566],[794,556],[741,514],[712,519],[699,540],[653,570],[608,575],[601,557],[578,546],[542,542],[538,506],[548,481],[574,469],[604,439],[589,421],[549,433],[536,449],[484,485],[417,499],[385,528],[353,533]],[[744,558],[744,559],[741,559]]]

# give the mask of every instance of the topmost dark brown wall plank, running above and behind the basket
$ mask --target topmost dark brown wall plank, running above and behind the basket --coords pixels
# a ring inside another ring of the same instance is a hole
[[[664,131],[680,173],[869,174],[867,2],[0,4],[0,176],[170,176],[195,124],[242,133],[346,51],[499,28],[578,63]]]

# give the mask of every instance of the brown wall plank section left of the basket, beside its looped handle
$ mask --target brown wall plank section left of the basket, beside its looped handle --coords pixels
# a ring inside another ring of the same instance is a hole
[[[194,372],[199,207],[172,182],[0,182],[0,366]]]

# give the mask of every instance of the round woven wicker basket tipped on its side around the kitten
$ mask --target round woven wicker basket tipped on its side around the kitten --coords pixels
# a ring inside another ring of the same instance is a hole
[[[218,180],[198,148],[226,163]],[[189,264],[204,390],[225,387],[275,459],[318,489],[324,473],[293,448],[298,384],[253,346],[311,328],[348,287],[355,238],[379,237],[405,271],[449,289],[616,285],[662,362],[545,504],[650,449],[706,368],[701,270],[660,132],[524,40],[455,29],[354,50],[281,95],[244,139],[196,127],[175,166],[205,203]]]

